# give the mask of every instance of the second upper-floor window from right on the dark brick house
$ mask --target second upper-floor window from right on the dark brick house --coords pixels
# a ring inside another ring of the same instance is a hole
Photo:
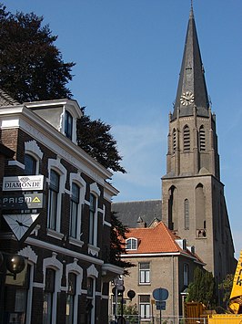
[[[72,196],[70,206],[70,236],[77,238],[79,216],[80,188],[72,183]]]

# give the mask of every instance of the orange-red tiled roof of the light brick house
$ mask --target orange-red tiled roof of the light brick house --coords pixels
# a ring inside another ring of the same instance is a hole
[[[176,244],[178,238],[163,222],[156,227],[129,228],[126,238],[134,237],[138,240],[136,250],[126,250],[127,254],[141,253],[176,253],[182,249]]]

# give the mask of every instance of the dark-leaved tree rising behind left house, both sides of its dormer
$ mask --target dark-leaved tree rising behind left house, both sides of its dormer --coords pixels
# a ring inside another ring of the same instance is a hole
[[[0,5],[0,88],[20,103],[72,97],[66,84],[74,63],[65,63],[43,16],[15,15]],[[111,126],[84,115],[77,122],[79,146],[114,172],[126,172]]]

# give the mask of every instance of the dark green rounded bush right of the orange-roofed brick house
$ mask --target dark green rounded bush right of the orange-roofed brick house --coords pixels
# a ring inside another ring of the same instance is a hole
[[[203,303],[208,309],[216,305],[215,280],[211,272],[200,267],[194,271],[194,280],[187,288],[186,301]]]

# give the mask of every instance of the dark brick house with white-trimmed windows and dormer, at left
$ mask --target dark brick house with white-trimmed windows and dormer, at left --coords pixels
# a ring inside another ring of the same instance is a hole
[[[1,188],[7,177],[44,176],[43,190],[25,191],[43,199],[42,207],[2,204],[1,251],[26,260],[16,279],[5,277],[2,322],[107,323],[109,281],[123,271],[108,262],[111,200],[118,192],[107,182],[112,173],[77,146],[80,107],[70,99],[18,104],[4,91],[0,103],[1,141],[15,152],[5,174],[1,168]]]

